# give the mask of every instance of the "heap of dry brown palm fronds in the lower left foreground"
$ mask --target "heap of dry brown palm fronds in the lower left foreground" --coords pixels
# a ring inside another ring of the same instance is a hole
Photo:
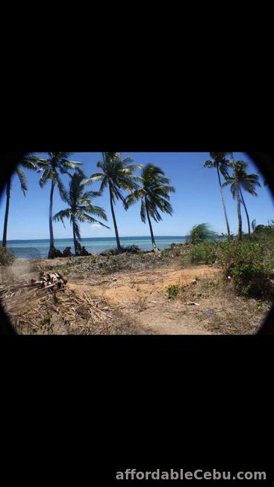
[[[61,335],[116,335],[140,334],[136,324],[129,323],[103,298],[90,296],[85,291],[75,292],[59,287],[60,280],[43,278],[48,286],[41,287],[42,279],[31,284],[2,285],[0,297],[3,306],[22,334]],[[60,276],[60,275],[59,275]],[[52,276],[51,276],[52,277]],[[40,275],[41,278],[41,275]],[[38,287],[39,284],[39,287]],[[55,285],[54,285],[55,284]],[[113,320],[115,314],[115,324]]]

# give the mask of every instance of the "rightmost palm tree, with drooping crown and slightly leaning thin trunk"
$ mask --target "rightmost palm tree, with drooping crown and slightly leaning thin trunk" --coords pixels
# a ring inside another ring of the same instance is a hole
[[[234,162],[234,175],[233,177],[227,177],[227,181],[223,184],[223,186],[231,185],[231,192],[233,198],[237,198],[237,207],[240,204],[243,205],[245,209],[246,219],[248,221],[248,234],[250,235],[250,219],[248,216],[248,210],[245,205],[245,200],[243,199],[242,189],[250,193],[252,196],[257,196],[255,191],[256,186],[261,186],[259,183],[259,176],[257,174],[248,174],[246,172],[248,168],[248,163],[244,161],[236,161]],[[238,202],[238,195],[239,195],[239,202]],[[239,208],[238,208],[239,212]],[[241,212],[241,207],[240,207]],[[241,237],[239,237],[241,238]]]

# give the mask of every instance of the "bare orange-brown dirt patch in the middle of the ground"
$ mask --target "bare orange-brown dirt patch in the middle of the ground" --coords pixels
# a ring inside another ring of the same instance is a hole
[[[196,277],[213,278],[216,272],[216,269],[209,266],[180,270],[161,268],[156,271],[111,274],[103,279],[102,276],[95,276],[89,282],[69,282],[68,286],[106,298],[123,314],[137,320],[144,328],[153,328],[155,333],[210,335],[197,318],[198,307],[168,299],[166,287],[187,285]]]

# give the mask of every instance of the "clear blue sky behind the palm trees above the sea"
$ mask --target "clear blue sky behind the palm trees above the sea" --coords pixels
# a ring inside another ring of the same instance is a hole
[[[41,156],[43,154],[40,154]],[[45,154],[44,154],[45,156]],[[160,166],[170,182],[175,186],[176,193],[171,194],[173,216],[163,215],[163,221],[153,223],[155,235],[185,235],[197,223],[209,223],[212,230],[226,232],[217,173],[214,169],[203,168],[205,160],[209,159],[208,152],[122,152],[122,157],[132,156],[135,163],[154,163]],[[241,159],[249,163],[251,173],[257,173],[255,166],[248,156],[241,152],[234,152],[235,160]],[[99,171],[96,163],[102,160],[100,152],[74,152],[70,159],[83,162],[83,170],[89,176]],[[10,198],[10,216],[8,221],[8,240],[13,239],[47,239],[49,237],[49,182],[44,189],[38,184],[39,174],[26,170],[29,191],[26,198],[20,190],[17,175],[13,176]],[[63,176],[65,185],[68,177]],[[263,182],[260,177],[261,183]],[[93,184],[94,190],[99,188],[99,182]],[[91,186],[90,186],[91,189]],[[224,189],[225,202],[229,224],[233,233],[237,232],[236,202],[232,199],[229,189]],[[258,189],[258,198],[245,193],[245,203],[250,214],[250,221],[254,218],[257,224],[267,224],[274,218],[273,200],[270,191],[263,185]],[[108,216],[107,230],[98,225],[81,225],[82,237],[115,237],[108,193],[94,200],[95,205],[104,207]],[[4,195],[0,200],[0,238],[3,232],[3,218],[6,200]],[[54,195],[54,213],[64,209],[65,203],[56,190]],[[124,211],[122,202],[115,205],[115,214],[120,236],[146,236],[149,234],[147,225],[140,221],[140,205],[137,203],[128,211]],[[246,219],[243,214],[243,231],[247,231]],[[54,237],[72,237],[69,221],[54,223]]]

